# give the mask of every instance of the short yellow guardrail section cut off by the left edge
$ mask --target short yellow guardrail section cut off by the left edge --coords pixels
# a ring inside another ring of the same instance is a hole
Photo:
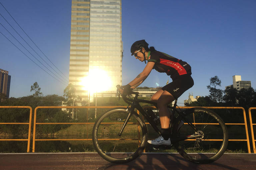
[[[28,139],[0,139],[0,140],[16,140],[16,141],[28,141],[27,152],[30,147],[30,136],[31,136],[31,122],[32,122],[32,108],[30,106],[0,106],[0,108],[27,108],[30,109],[29,123],[0,123],[0,125],[29,125],[28,126]]]

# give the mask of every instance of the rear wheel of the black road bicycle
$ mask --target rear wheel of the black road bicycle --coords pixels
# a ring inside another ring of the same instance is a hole
[[[184,111],[178,119],[184,122],[177,136],[200,135],[176,143],[176,149],[186,159],[195,163],[211,163],[225,152],[228,145],[227,128],[223,120],[213,111],[192,108]],[[192,123],[197,131],[188,125]]]

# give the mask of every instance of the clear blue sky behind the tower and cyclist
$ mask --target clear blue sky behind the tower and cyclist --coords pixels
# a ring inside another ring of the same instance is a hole
[[[46,56],[68,77],[71,0],[0,2]],[[256,1],[156,2],[159,1],[122,1],[123,84],[129,83],[145,66],[144,62],[136,60],[130,54],[131,44],[145,39],[149,46],[191,65],[195,84],[180,97],[179,103],[188,98],[189,92],[194,96],[208,95],[206,86],[215,75],[222,81],[221,89],[232,84],[233,75],[241,75],[242,80],[251,81],[253,88],[256,88]],[[1,5],[0,13],[24,36]],[[0,22],[20,40],[1,16]],[[0,31],[15,42],[2,26]],[[28,40],[26,36],[24,38]],[[20,47],[17,42],[15,44]],[[27,47],[25,42],[22,44]],[[33,57],[28,52],[25,53]],[[65,85],[46,74],[2,35],[0,58],[0,68],[8,70],[12,76],[10,97],[32,94],[30,86],[35,81],[44,95],[63,95]],[[156,83],[164,86],[167,80],[165,73],[152,70],[142,86],[156,87]]]

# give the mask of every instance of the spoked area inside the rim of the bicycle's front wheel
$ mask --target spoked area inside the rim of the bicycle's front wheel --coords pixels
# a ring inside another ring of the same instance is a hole
[[[143,130],[138,122],[139,118],[134,117],[136,115],[131,115],[122,133],[119,134],[124,123],[122,120],[126,120],[127,115],[128,112],[123,110],[122,112],[110,112],[102,118],[102,124],[99,124],[97,128],[97,137],[98,145],[101,150],[104,151],[106,157],[109,156],[111,159],[123,159],[132,156],[133,153],[139,149],[141,144],[145,144],[144,140],[143,143],[138,145],[139,141],[142,141]],[[138,126],[140,131],[139,136]]]

